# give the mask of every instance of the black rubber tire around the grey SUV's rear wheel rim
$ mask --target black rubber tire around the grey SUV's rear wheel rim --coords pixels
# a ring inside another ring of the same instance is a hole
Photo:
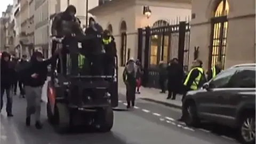
[[[251,122],[252,125],[252,131],[254,131],[254,137],[252,139],[246,139],[246,136],[248,136],[247,132],[244,131],[243,127],[246,128],[245,123],[246,122]],[[238,125],[238,140],[243,143],[243,144],[254,144],[255,143],[255,112],[253,113],[248,113],[245,115],[242,115],[240,117],[239,125]]]

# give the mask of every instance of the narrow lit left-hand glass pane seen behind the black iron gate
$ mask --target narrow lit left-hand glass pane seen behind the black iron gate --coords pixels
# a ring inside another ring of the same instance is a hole
[[[150,65],[157,65],[157,45],[158,36],[151,36],[151,46],[150,46]]]

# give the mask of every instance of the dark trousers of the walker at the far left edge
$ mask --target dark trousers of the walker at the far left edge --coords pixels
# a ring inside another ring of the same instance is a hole
[[[7,114],[11,114],[12,113],[12,95],[10,94],[10,87],[9,88],[1,87],[1,110],[4,105],[4,100],[3,100],[4,92],[7,97],[6,112],[7,112]]]

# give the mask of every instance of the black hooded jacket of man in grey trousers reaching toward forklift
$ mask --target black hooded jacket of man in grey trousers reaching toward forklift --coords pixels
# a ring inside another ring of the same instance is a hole
[[[37,61],[37,57],[43,57],[41,52],[34,52],[27,68],[21,71],[22,81],[24,85],[31,87],[43,86],[47,78],[47,66],[50,65],[52,58],[45,61]],[[36,73],[36,78],[31,77]]]

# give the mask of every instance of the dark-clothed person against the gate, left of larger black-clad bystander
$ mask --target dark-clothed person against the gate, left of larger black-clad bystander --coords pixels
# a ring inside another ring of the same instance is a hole
[[[166,82],[167,82],[167,71],[166,71],[166,63],[163,61],[159,62],[159,86],[161,89],[160,93],[165,93],[166,91]]]

